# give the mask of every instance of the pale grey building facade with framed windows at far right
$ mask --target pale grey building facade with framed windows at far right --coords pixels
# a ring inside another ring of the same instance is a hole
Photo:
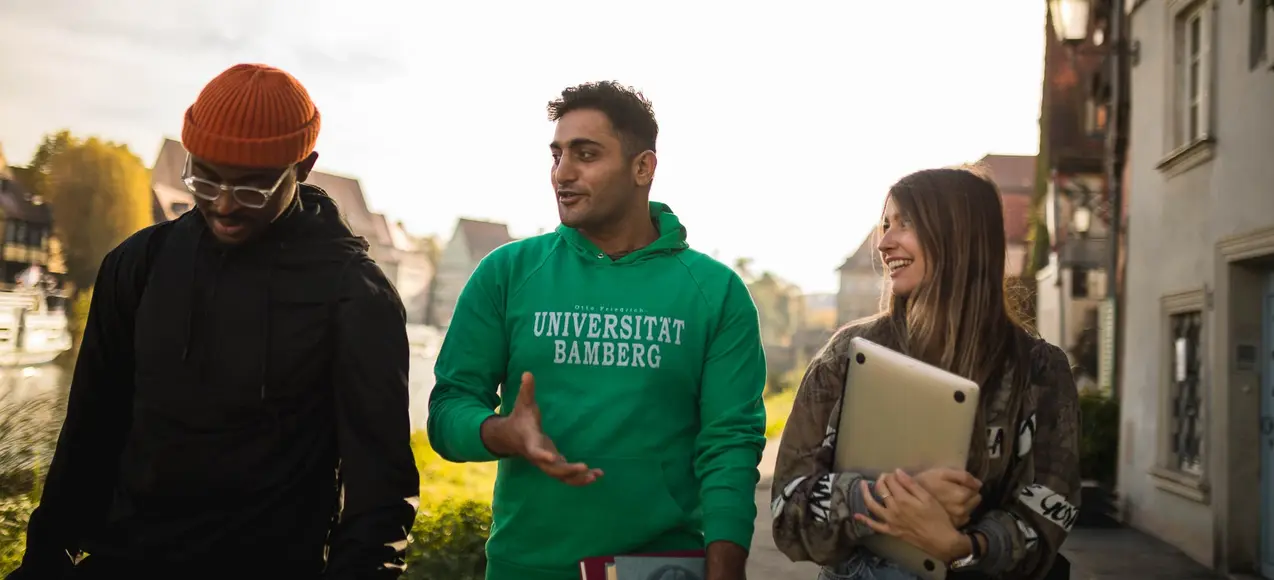
[[[1271,13],[1156,0],[1127,17],[1121,512],[1220,572],[1274,579]]]

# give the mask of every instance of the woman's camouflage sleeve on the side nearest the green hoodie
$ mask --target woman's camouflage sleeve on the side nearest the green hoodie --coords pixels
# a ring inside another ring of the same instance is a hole
[[[850,338],[848,330],[837,333],[810,362],[780,441],[771,487],[773,537],[792,561],[834,565],[871,533],[854,520],[854,514],[868,514],[862,477],[832,473]]]

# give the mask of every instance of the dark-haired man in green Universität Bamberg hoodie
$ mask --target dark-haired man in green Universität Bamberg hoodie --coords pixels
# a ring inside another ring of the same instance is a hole
[[[429,442],[499,460],[488,580],[705,548],[708,580],[741,580],[764,447],[757,308],[650,201],[659,127],[641,93],[586,83],[548,110],[562,226],[474,270],[434,367]]]

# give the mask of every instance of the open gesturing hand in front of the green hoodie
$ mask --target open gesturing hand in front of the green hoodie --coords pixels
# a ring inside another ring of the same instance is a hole
[[[489,424],[489,427],[488,427]],[[601,469],[582,463],[567,463],[557,445],[540,426],[540,405],[535,402],[535,377],[522,373],[522,386],[508,417],[483,426],[483,440],[496,451],[526,458],[548,475],[572,486],[586,486],[601,477]]]

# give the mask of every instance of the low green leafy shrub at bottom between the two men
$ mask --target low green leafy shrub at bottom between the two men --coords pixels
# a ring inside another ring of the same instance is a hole
[[[403,579],[483,580],[489,534],[487,502],[445,500],[422,505],[412,526]]]

